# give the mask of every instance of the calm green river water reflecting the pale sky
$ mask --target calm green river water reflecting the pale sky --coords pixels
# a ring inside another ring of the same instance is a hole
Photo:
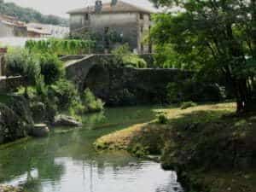
[[[181,192],[175,172],[125,152],[96,152],[97,137],[154,119],[155,108],[110,108],[83,117],[79,129],[0,149],[0,183],[27,192]]]

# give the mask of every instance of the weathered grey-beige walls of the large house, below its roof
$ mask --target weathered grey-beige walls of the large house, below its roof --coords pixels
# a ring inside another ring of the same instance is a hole
[[[136,49],[138,53],[148,53],[151,51],[148,44],[144,44],[142,49],[142,42],[152,22],[150,15],[143,13],[142,15],[143,18],[139,13],[90,14],[89,20],[85,20],[85,14],[73,14],[70,15],[70,32],[77,34],[90,31],[102,36],[105,35],[106,30],[116,32],[123,37],[123,42],[128,43],[131,49]],[[114,46],[115,44],[110,44],[110,47]]]

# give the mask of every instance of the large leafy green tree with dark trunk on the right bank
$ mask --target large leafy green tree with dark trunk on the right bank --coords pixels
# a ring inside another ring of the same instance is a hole
[[[183,65],[198,73],[224,75],[236,96],[238,113],[255,109],[256,1],[152,2],[180,9],[155,16],[154,43],[172,44]]]

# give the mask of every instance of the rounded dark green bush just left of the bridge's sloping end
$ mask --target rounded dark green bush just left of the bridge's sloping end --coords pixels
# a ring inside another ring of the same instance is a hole
[[[54,84],[64,75],[64,65],[55,55],[41,55],[40,67],[45,84]]]

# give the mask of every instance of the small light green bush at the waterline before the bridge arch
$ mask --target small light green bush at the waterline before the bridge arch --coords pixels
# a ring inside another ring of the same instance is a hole
[[[101,99],[96,98],[90,89],[84,90],[82,96],[82,102],[84,105],[84,113],[86,112],[100,112],[104,108],[104,102]]]

